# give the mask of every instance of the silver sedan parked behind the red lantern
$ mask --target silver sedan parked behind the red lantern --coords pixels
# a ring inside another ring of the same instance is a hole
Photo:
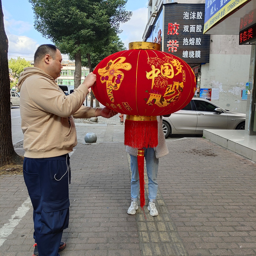
[[[244,126],[245,114],[201,98],[193,98],[185,108],[163,117],[165,138],[169,134],[203,134],[204,129],[244,130]]]

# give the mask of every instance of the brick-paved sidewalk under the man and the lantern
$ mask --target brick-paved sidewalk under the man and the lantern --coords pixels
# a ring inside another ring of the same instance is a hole
[[[116,122],[117,121],[117,122]],[[119,123],[118,123],[119,121]],[[76,124],[70,221],[60,256],[256,255],[256,163],[203,138],[166,140],[151,217],[130,206],[129,155],[118,116]],[[84,142],[95,132],[97,142]],[[23,154],[22,142],[15,150]],[[145,177],[147,184],[147,180]],[[146,205],[147,185],[145,189]],[[31,256],[32,208],[22,175],[0,177],[0,255]]]

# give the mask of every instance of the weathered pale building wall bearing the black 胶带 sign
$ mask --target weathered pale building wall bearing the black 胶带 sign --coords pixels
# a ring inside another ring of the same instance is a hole
[[[197,78],[195,96],[204,98],[204,91],[208,91],[209,99],[217,105],[246,113],[243,92],[249,77],[251,45],[241,47],[237,35],[203,34],[204,9],[204,0],[149,0],[142,39],[161,44],[162,51],[190,65]]]

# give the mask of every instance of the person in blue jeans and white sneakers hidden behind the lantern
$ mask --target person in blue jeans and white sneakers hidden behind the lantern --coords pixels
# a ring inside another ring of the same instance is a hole
[[[166,117],[170,115],[165,115]],[[156,195],[157,195],[157,172],[158,172],[158,163],[159,158],[167,155],[169,153],[164,132],[162,128],[162,116],[157,116],[157,128],[158,128],[158,145],[156,148],[144,148],[144,156],[146,160],[146,168],[148,174],[148,211],[151,216],[157,216],[158,211],[156,209]],[[138,207],[138,198],[140,194],[140,177],[138,170],[137,162],[137,152],[138,148],[132,148],[126,146],[126,152],[131,156],[131,170],[132,170],[132,179],[131,179],[131,197],[132,202],[127,213],[133,215],[136,213]]]

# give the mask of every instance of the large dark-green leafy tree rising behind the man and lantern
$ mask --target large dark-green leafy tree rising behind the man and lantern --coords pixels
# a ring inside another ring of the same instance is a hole
[[[74,87],[81,83],[81,56],[90,54],[114,32],[120,23],[130,20],[125,11],[127,0],[29,0],[35,13],[35,28],[59,46],[61,52],[74,56]],[[96,47],[97,46],[97,47]]]

